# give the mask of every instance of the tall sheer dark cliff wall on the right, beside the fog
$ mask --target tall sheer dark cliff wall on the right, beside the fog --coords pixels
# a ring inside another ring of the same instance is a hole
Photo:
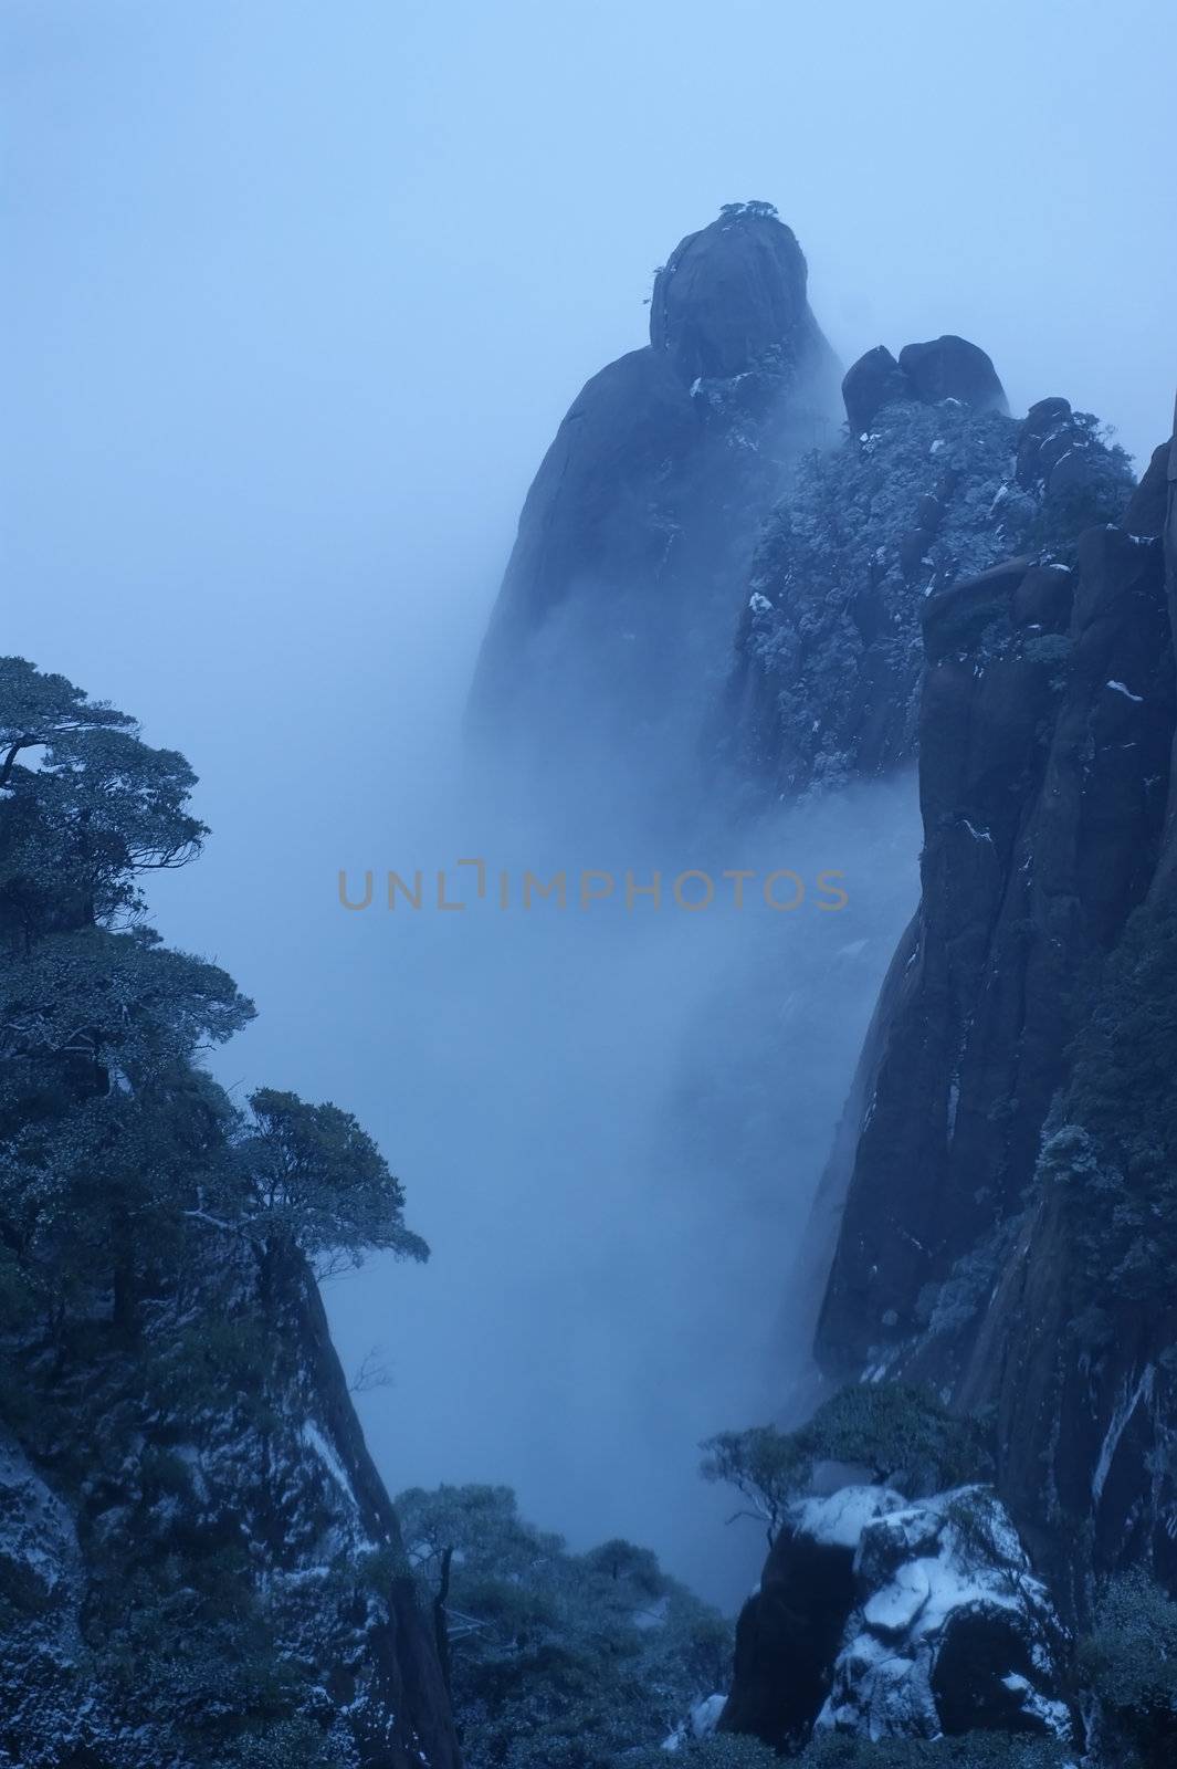
[[[1159,550],[1089,531],[1066,640],[1014,624],[1043,594],[1027,578],[999,568],[924,614],[923,906],[820,1321],[839,1371],[914,1336],[924,1284],[1018,1206],[1071,978],[1156,865],[1173,731]]]

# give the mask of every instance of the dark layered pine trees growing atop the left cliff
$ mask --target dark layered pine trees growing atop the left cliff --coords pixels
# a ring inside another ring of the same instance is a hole
[[[210,1229],[320,1275],[428,1256],[350,1113],[274,1088],[239,1109],[203,1068],[253,1003],[164,946],[143,897],[201,849],[194,785],[127,713],[0,658],[0,1309],[104,1283],[131,1320],[159,1237]]]

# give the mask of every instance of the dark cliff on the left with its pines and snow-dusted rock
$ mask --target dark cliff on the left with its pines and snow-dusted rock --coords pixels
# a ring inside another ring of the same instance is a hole
[[[253,1007],[143,916],[193,784],[0,662],[0,1762],[454,1769],[315,1283],[428,1249],[348,1113],[201,1067]]]

